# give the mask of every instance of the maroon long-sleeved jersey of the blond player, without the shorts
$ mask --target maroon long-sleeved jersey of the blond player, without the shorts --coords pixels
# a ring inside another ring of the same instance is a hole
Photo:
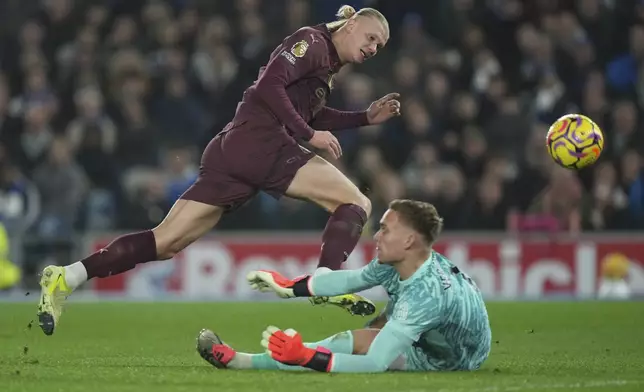
[[[329,108],[331,79],[341,67],[326,25],[303,27],[273,51],[258,79],[243,95],[235,118],[224,131],[241,127],[308,141],[314,130],[338,130],[367,125],[365,111]]]

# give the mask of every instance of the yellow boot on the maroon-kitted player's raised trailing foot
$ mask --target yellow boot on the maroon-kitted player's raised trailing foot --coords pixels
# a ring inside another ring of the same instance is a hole
[[[55,265],[45,267],[40,277],[38,324],[45,335],[52,335],[60,321],[65,299],[72,293],[65,281],[65,269]]]

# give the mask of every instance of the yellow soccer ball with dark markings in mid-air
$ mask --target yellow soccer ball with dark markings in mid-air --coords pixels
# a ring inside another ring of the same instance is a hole
[[[582,169],[597,161],[604,149],[604,134],[590,118],[567,114],[550,126],[548,153],[559,166]]]

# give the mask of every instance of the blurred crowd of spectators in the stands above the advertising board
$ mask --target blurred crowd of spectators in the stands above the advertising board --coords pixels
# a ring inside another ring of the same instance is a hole
[[[343,3],[3,0],[2,224],[38,238],[153,227],[275,46]],[[342,70],[330,106],[402,95],[401,117],[337,133],[333,163],[375,217],[411,197],[434,203],[446,230],[644,227],[644,2],[346,3],[383,12],[391,39]],[[571,112],[606,135],[581,172],[558,169],[545,148],[549,124]],[[260,195],[218,229],[314,230],[327,218]]]

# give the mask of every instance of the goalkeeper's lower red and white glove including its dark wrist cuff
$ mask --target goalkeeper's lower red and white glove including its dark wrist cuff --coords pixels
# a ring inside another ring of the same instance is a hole
[[[262,346],[271,358],[285,365],[330,371],[331,351],[319,346],[316,349],[306,347],[302,343],[302,335],[293,329],[282,331],[269,326],[262,333]]]

